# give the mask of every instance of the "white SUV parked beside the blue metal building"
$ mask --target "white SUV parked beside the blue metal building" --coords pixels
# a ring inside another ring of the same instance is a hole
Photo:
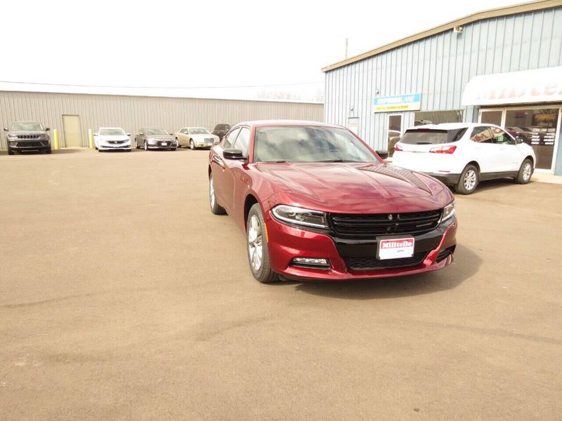
[[[525,184],[535,171],[535,152],[521,138],[482,123],[429,124],[407,129],[394,146],[393,164],[437,178],[471,194],[478,182],[514,178]]]

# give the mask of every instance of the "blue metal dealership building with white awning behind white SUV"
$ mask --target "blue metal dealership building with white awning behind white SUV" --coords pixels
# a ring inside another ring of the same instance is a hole
[[[410,126],[481,121],[524,132],[537,169],[562,175],[562,0],[475,13],[322,71],[325,121],[376,149]]]

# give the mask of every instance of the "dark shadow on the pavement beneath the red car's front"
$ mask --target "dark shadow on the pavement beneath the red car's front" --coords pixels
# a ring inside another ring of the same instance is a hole
[[[296,283],[295,289],[303,293],[341,300],[410,297],[456,288],[476,274],[481,263],[480,256],[465,246],[457,245],[452,265],[437,272],[397,278],[299,282]]]

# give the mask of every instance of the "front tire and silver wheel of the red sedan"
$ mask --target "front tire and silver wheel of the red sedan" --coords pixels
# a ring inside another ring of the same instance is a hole
[[[261,283],[271,283],[278,281],[279,277],[271,269],[265,232],[266,222],[263,220],[261,206],[259,203],[254,203],[248,213],[246,224],[248,262],[254,278]]]

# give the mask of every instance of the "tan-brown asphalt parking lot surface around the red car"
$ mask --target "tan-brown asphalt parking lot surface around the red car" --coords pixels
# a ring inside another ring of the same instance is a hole
[[[262,285],[207,151],[0,154],[2,420],[555,420],[562,185],[457,196],[455,262]]]

